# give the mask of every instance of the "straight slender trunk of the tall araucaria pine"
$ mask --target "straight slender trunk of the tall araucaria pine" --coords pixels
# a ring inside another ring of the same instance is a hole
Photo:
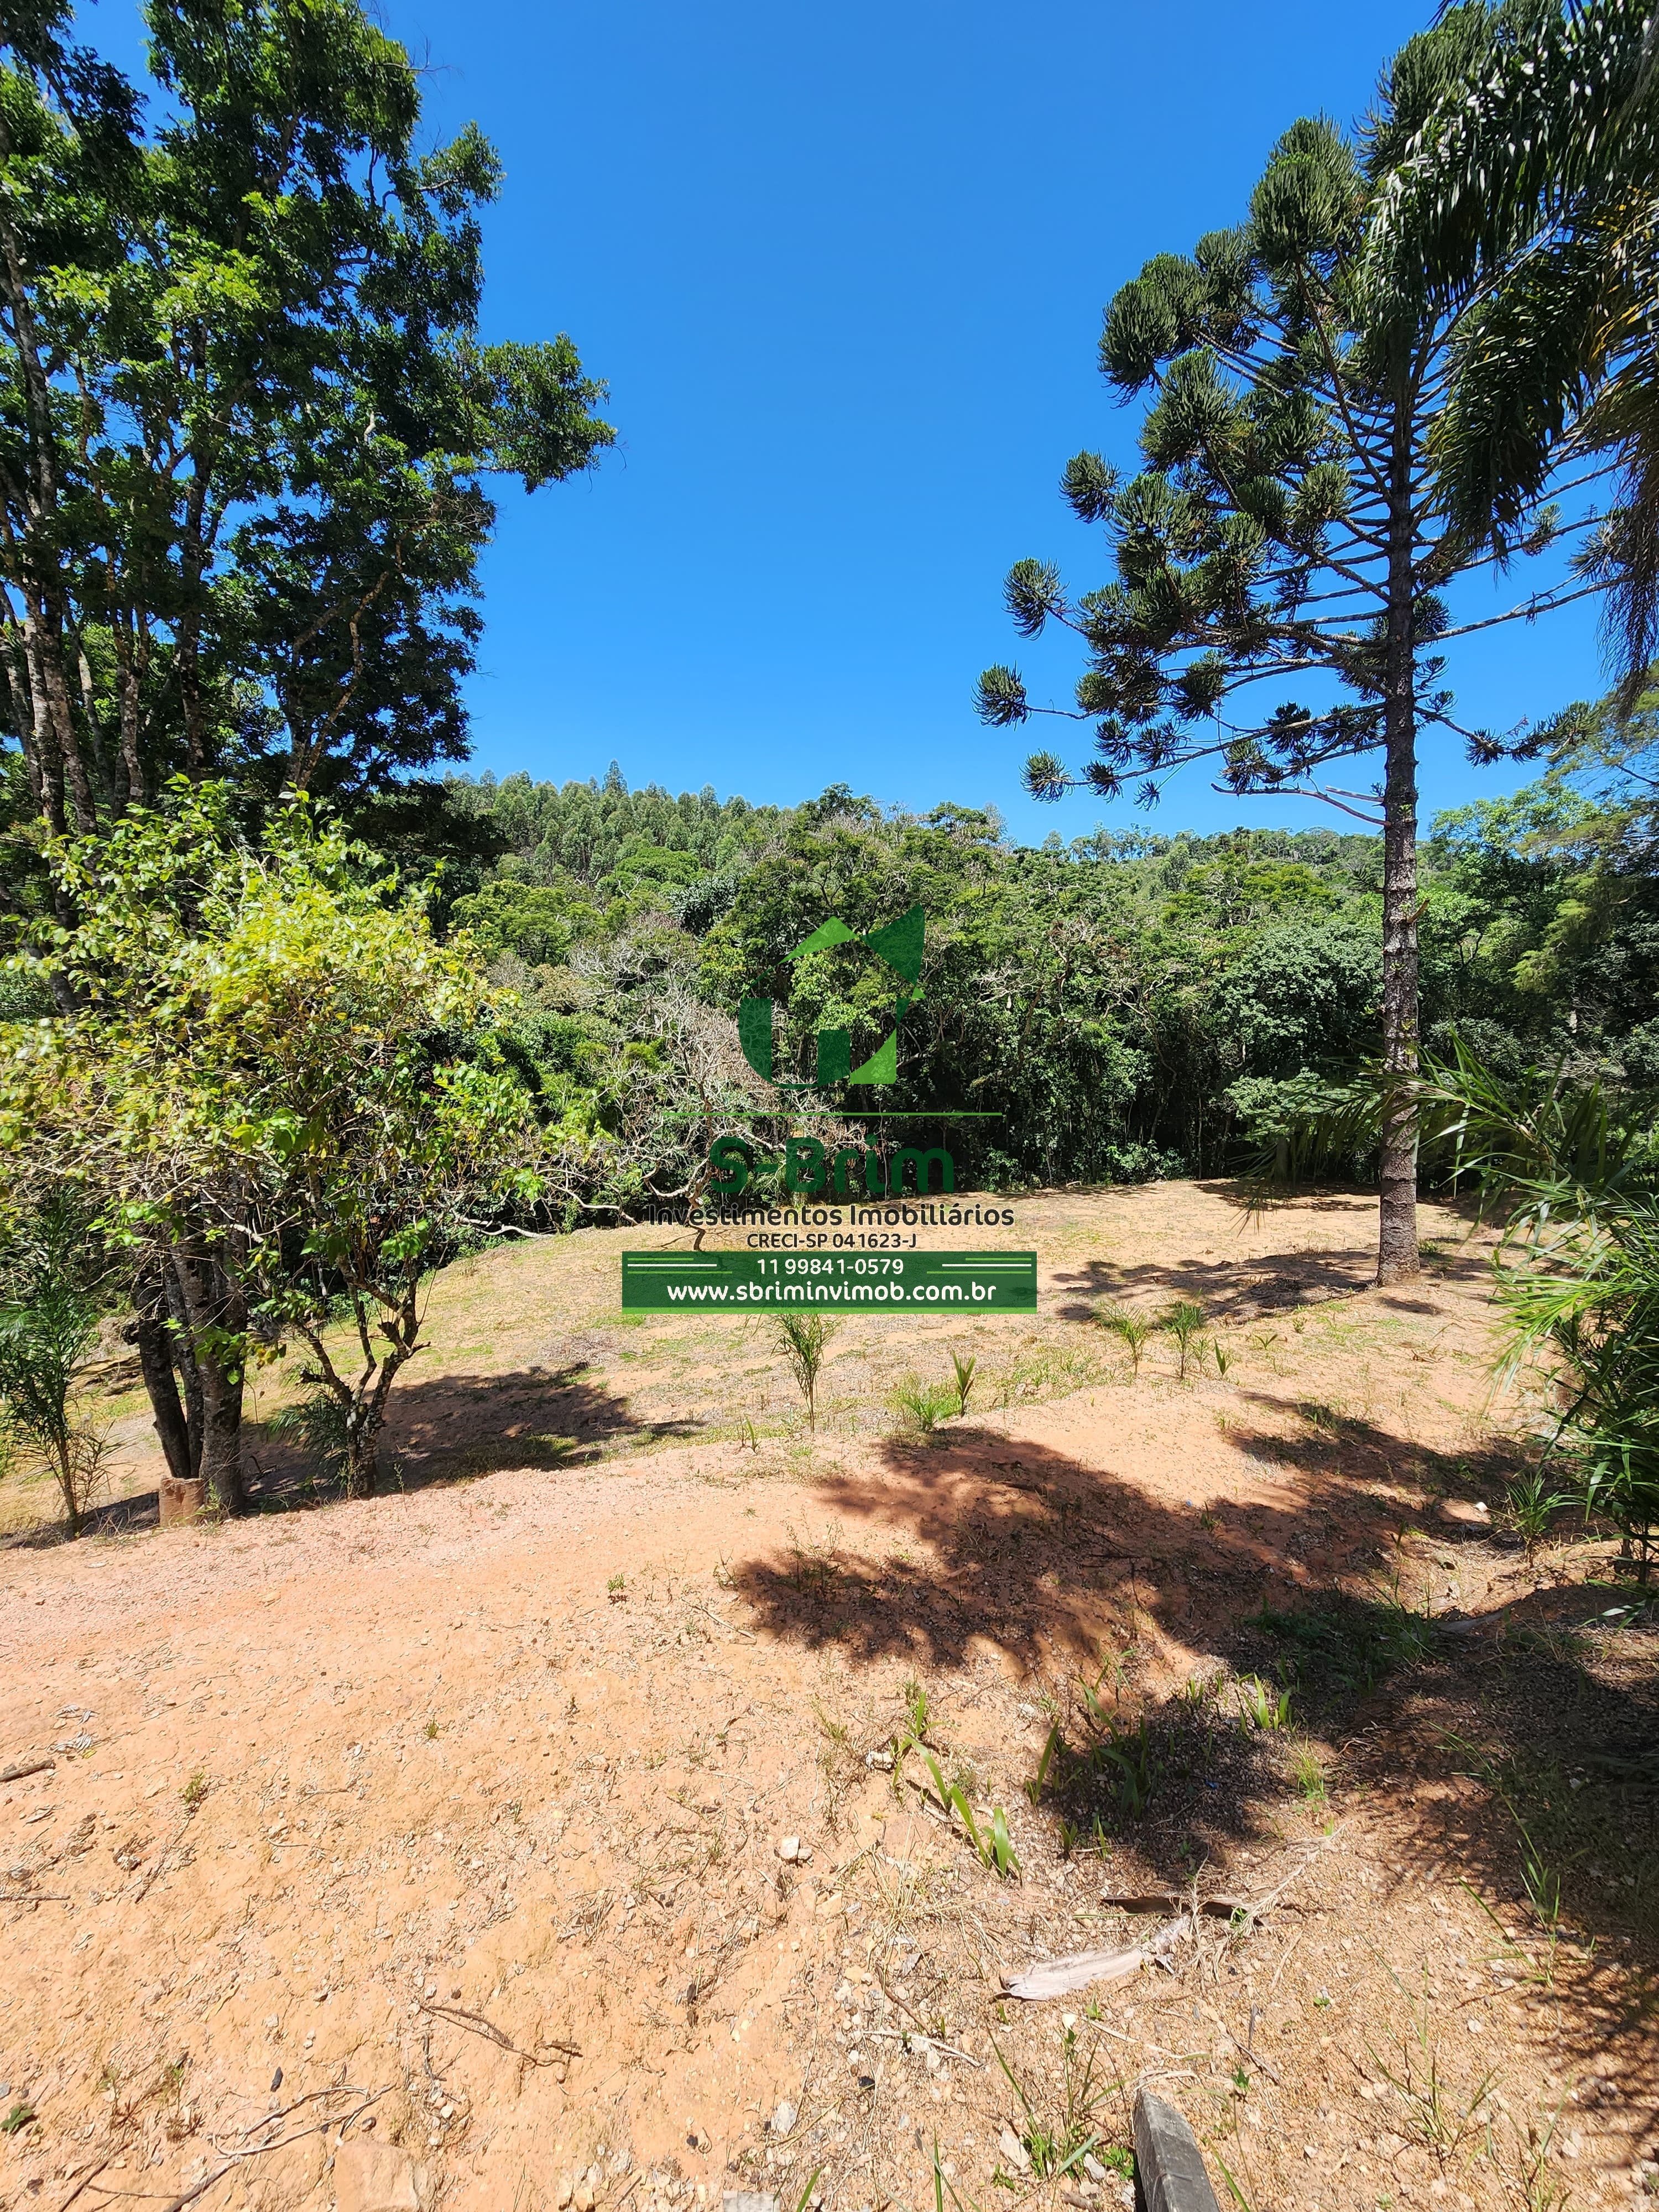
[[[1402,409],[1407,416],[1407,409]],[[1383,1068],[1418,1073],[1418,701],[1416,566],[1409,420],[1396,438],[1389,500],[1389,622],[1383,692],[1387,774],[1383,783]],[[1383,1110],[1383,1190],[1376,1281],[1418,1276],[1418,1108],[1389,1097]]]

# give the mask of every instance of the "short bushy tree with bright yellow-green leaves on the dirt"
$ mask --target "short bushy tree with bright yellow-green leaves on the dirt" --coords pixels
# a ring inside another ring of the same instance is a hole
[[[42,960],[73,1013],[4,1031],[9,1179],[77,1183],[133,1252],[157,1429],[223,1509],[248,1360],[285,1338],[338,1407],[347,1489],[372,1491],[431,1270],[538,1190],[498,995],[301,801],[250,847],[215,785],[184,790],[55,865],[80,922]]]

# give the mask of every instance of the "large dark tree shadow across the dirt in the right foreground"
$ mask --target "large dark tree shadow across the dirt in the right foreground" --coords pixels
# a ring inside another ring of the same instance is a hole
[[[1250,1431],[1234,1440],[1250,1449]],[[1402,1513],[1378,1480],[1387,1469],[1354,1462],[1354,1442],[1407,1460],[1431,1495],[1473,1513],[1467,1455],[1385,1431],[1296,1449],[1294,1486],[1199,1515],[1044,1444],[956,1425],[936,1449],[889,1442],[880,1480],[838,1473],[816,1486],[832,1526],[863,1524],[856,1551],[794,1540],[734,1579],[763,1632],[854,1666],[958,1670],[975,1650],[1002,1652],[1053,1721],[1046,1770],[1029,1781],[1062,1847],[1128,1847],[1170,1885],[1272,1834],[1274,1805],[1298,1785],[1318,1796],[1332,1756],[1345,1781],[1398,1801],[1409,1851],[1440,1854],[1482,1896],[1520,1909],[1531,1909],[1526,1836],[1542,1818],[1524,1801],[1557,1812],[1571,1801],[1588,1823],[1606,1783],[1624,1814],[1604,1809],[1597,1834],[1624,1818],[1659,1843],[1659,1765],[1650,1778],[1639,1767],[1595,1781],[1593,1770],[1595,1756],[1639,1761],[1655,1743],[1657,1670],[1606,1679],[1571,1632],[1562,1641],[1562,1624],[1606,1608],[1606,1595],[1593,1608],[1582,1588],[1537,1588],[1489,1619],[1431,1615],[1438,1559],[1491,1546],[1491,1531],[1436,1517],[1420,1542],[1407,1524],[1422,1515]],[[1283,1440],[1272,1447],[1283,1460]],[[1480,1462],[1486,1475],[1500,1467],[1495,1453]],[[1192,1652],[1175,1694],[1150,1688],[1150,1630]],[[1475,1765],[1480,1816],[1451,1790],[1420,1796],[1425,1778]],[[1568,1792],[1573,1765],[1593,1772]],[[1597,1863],[1610,1867],[1606,1849]],[[1652,1949],[1659,1871],[1635,1867],[1639,1849],[1641,1836],[1621,1845],[1617,1878],[1579,1885],[1573,1913],[1586,1933]],[[1652,1847],[1648,1865],[1659,1869]]]

